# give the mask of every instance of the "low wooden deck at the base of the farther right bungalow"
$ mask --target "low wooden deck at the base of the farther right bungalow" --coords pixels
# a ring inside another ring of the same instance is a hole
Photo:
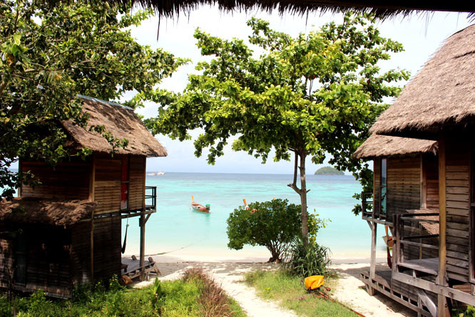
[[[366,285],[367,288],[373,288],[375,291],[379,291],[384,296],[391,298],[404,306],[411,308],[417,312],[418,316],[431,317],[431,313],[427,310],[421,301],[414,301],[409,293],[404,292],[401,288],[395,288],[392,286],[392,271],[376,271],[374,279],[369,278],[369,272],[362,272],[359,278]]]

